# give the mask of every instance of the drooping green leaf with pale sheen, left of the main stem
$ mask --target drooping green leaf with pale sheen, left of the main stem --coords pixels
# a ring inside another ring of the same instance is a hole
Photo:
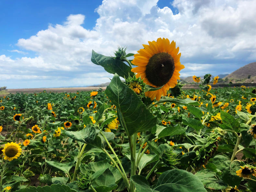
[[[86,128],[80,130],[80,131],[66,131],[63,130],[63,133],[76,140],[80,141],[83,143],[88,143],[95,145],[97,147],[101,147],[101,139],[100,137],[96,134],[96,130],[94,127],[91,127],[90,125],[87,125]]]

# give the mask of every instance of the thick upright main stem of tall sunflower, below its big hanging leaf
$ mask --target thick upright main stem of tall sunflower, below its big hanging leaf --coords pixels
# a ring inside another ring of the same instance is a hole
[[[131,176],[133,176],[133,175],[136,174],[136,140],[137,140],[137,135],[133,134],[132,136],[128,136],[128,139],[129,139],[130,153],[131,153]],[[130,182],[129,192],[134,192],[134,189],[135,189],[134,183]]]

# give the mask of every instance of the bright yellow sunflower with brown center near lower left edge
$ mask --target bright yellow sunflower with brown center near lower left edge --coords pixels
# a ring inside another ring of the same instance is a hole
[[[6,143],[2,150],[4,159],[8,161],[17,159],[21,155],[21,151],[20,145],[14,142]]]

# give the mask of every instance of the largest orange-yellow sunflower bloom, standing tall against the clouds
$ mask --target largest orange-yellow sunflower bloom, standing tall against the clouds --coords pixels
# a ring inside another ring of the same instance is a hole
[[[136,74],[136,78],[141,77],[144,82],[153,87],[162,88],[156,91],[147,91],[145,96],[154,100],[160,100],[162,95],[166,95],[169,88],[177,85],[177,79],[180,79],[179,71],[184,69],[180,64],[179,47],[176,43],[165,38],[158,38],[157,41],[148,41],[149,45],[143,45],[138,54],[134,55],[132,63],[138,67],[131,71]]]

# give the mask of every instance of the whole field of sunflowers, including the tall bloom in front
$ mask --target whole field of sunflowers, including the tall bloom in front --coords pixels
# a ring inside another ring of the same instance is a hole
[[[0,192],[256,191],[255,88],[184,90],[175,42],[143,46],[92,51],[105,91],[0,98]]]

